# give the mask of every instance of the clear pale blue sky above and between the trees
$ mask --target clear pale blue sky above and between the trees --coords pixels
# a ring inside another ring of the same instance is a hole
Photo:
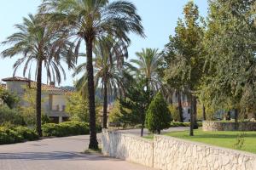
[[[135,58],[135,52],[142,48],[164,48],[168,42],[168,37],[173,35],[177,18],[182,17],[183,6],[188,0],[130,0],[135,3],[138,14],[143,18],[143,26],[147,38],[143,39],[136,35],[131,35],[131,47],[129,48],[129,58]],[[15,32],[14,25],[20,24],[22,17],[27,14],[35,14],[41,0],[8,0],[1,1],[0,6],[0,42]],[[207,16],[207,0],[195,0],[199,6],[202,16]],[[2,51],[5,47],[0,47]],[[19,56],[13,59],[0,59],[0,79],[12,77],[13,64]],[[67,80],[61,83],[62,86],[73,85],[73,71],[67,71]],[[22,67],[16,74],[22,77]],[[43,82],[46,82],[45,74]]]

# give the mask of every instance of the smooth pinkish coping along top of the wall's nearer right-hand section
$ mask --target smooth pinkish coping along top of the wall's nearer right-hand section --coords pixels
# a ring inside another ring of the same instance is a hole
[[[164,139],[172,139],[172,140],[176,140],[176,141],[187,143],[187,144],[196,144],[196,145],[199,145],[201,147],[207,147],[207,148],[210,148],[210,149],[213,149],[213,150],[214,149],[215,150],[223,150],[223,151],[231,152],[231,153],[236,154],[236,155],[242,154],[242,155],[250,156],[250,157],[253,157],[254,159],[256,159],[256,154],[253,154],[253,153],[250,153],[250,152],[247,152],[247,151],[232,150],[230,148],[224,148],[224,147],[215,146],[215,145],[212,145],[212,144],[205,144],[205,143],[190,141],[190,140],[186,140],[186,139],[178,139],[178,138],[174,138],[172,136],[166,136],[166,135],[154,134],[154,137],[156,137],[156,138],[160,137],[160,138],[164,138]]]

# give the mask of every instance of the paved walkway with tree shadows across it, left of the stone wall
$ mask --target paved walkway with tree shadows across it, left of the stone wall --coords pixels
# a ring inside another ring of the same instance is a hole
[[[105,156],[85,155],[89,136],[0,145],[0,170],[149,170]]]

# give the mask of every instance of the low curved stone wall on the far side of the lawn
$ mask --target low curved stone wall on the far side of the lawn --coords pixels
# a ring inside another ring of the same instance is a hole
[[[236,123],[204,121],[202,123],[202,129],[203,131],[234,131],[236,130]],[[256,122],[239,122],[238,129],[256,131]]]

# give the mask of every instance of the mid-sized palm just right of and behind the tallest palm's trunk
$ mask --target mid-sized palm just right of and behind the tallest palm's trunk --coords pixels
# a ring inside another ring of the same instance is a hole
[[[96,59],[94,59],[95,88],[100,86],[102,89],[103,128],[107,128],[108,94],[122,94],[121,74],[124,58],[128,57],[127,46],[122,42],[113,42],[111,45],[102,42],[96,46],[94,51],[96,54]],[[79,65],[73,74],[73,76],[77,76],[81,72],[85,72],[76,84],[79,90],[84,90],[87,85],[86,65],[86,63]]]

